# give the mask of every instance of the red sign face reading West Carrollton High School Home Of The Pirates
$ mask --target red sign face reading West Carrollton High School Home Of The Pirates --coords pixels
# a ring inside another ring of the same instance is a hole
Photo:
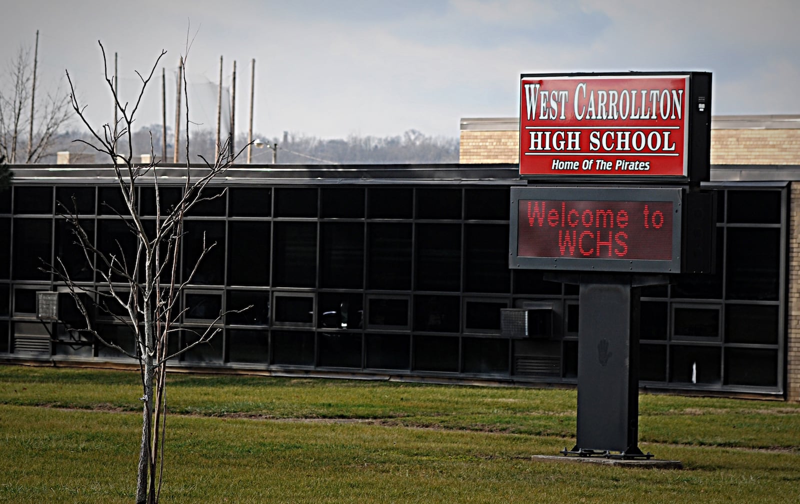
[[[688,75],[523,75],[523,176],[686,177]]]

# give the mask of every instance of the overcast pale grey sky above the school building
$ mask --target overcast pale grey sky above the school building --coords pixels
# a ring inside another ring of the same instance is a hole
[[[406,129],[456,137],[461,117],[516,117],[519,74],[537,72],[706,70],[714,73],[715,115],[800,113],[798,0],[8,3],[0,77],[40,30],[42,89],[66,89],[69,70],[94,121],[113,117],[98,40],[111,66],[118,53],[130,101],[134,70],[149,72],[167,51],[139,126],[160,121],[162,66],[174,121],[174,67],[187,40],[193,82],[215,84],[223,56],[230,85],[237,62],[238,131],[247,128],[256,60],[254,129],[269,137]],[[215,91],[197,93],[207,96],[193,118],[213,129]]]

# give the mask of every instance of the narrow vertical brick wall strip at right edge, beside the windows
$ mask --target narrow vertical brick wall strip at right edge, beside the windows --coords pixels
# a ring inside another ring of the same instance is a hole
[[[789,316],[786,342],[786,399],[800,401],[800,182],[789,202]]]

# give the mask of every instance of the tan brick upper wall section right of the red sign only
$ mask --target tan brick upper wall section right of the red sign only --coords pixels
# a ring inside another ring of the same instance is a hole
[[[712,129],[712,165],[798,165],[800,129]]]

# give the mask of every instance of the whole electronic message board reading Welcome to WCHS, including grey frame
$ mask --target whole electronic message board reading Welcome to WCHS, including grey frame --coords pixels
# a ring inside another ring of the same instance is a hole
[[[682,189],[515,187],[510,268],[681,271]]]

